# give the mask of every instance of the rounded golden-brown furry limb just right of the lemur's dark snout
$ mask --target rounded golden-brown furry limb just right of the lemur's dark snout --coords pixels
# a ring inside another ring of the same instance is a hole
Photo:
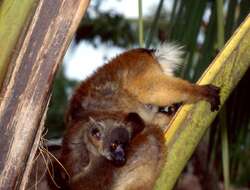
[[[166,157],[161,130],[147,126],[130,147],[129,159],[117,169],[111,190],[152,190]]]

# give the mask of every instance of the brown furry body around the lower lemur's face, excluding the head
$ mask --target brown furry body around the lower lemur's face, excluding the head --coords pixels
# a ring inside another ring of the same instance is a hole
[[[126,121],[121,113],[106,112],[98,115],[95,112],[88,114],[88,117],[90,115],[96,121],[104,121],[105,118],[111,119],[114,123]],[[67,179],[64,172],[60,171],[62,178],[65,178],[61,181],[68,181],[67,185],[62,186],[74,190],[152,189],[164,161],[162,131],[153,125],[145,127],[141,132],[138,131],[129,143],[126,164],[116,167],[102,155],[93,154],[94,151],[90,150],[92,142],[84,141],[84,134],[88,128],[86,122],[88,121],[83,119],[69,127],[65,134],[60,160],[70,178]],[[124,124],[128,126],[127,123]]]

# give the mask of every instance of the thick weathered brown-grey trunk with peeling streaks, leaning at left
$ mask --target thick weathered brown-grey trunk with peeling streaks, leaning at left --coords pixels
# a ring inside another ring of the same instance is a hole
[[[16,2],[13,0],[11,6]],[[39,0],[31,3],[35,7],[33,15],[26,19],[24,25],[27,27],[22,27],[19,33],[15,44],[18,54],[8,54],[12,56],[8,59],[8,74],[1,89],[0,189],[6,190],[25,189],[43,130],[40,123],[48,105],[53,78],[89,1]]]

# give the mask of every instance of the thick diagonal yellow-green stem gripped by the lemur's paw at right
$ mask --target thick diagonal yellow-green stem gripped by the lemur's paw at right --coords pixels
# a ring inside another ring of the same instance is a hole
[[[221,87],[223,105],[250,67],[250,16],[239,26],[198,84]],[[155,189],[171,190],[217,112],[206,102],[183,106],[165,133],[167,158]]]

